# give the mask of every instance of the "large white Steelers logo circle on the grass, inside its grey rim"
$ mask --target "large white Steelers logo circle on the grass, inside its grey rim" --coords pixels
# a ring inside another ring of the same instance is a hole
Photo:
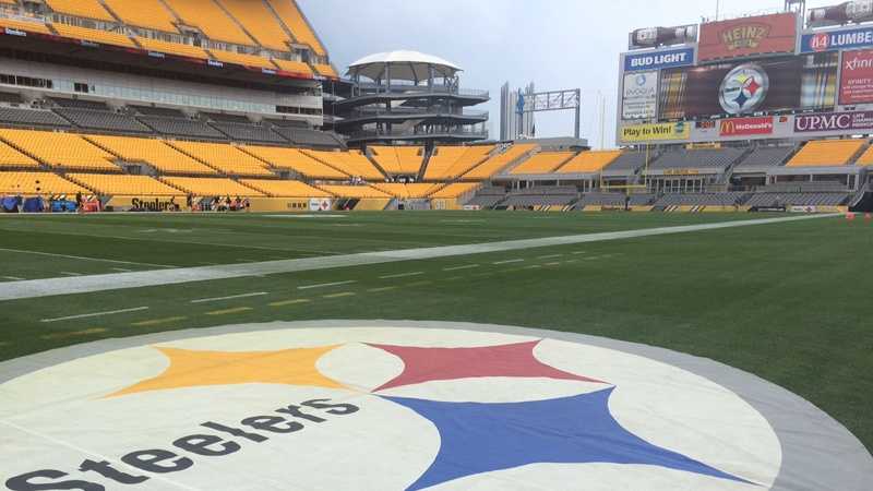
[[[0,489],[757,490],[780,472],[767,418],[670,363],[533,330],[292,324],[0,383]]]

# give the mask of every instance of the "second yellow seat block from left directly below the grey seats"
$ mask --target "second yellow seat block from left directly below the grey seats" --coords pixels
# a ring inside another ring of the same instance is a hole
[[[144,161],[162,173],[215,175],[215,169],[177,151],[160,140],[127,136],[87,136],[97,145],[130,163]]]

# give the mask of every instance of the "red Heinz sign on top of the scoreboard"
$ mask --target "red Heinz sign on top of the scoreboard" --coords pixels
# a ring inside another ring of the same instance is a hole
[[[710,22],[701,26],[698,61],[763,53],[794,53],[798,17],[794,13],[758,15]]]

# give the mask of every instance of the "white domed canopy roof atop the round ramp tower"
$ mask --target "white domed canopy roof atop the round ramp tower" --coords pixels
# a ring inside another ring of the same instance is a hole
[[[371,80],[385,76],[385,68],[391,65],[391,80],[422,81],[430,76],[428,67],[433,67],[435,77],[454,76],[462,69],[451,61],[418,51],[378,52],[363,57],[348,67],[348,73],[355,73]]]

